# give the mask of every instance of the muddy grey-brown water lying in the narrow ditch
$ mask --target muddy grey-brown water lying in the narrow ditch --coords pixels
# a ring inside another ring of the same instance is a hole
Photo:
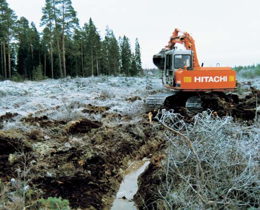
[[[150,161],[146,158],[140,161],[131,162],[128,169],[125,171],[124,180],[120,185],[111,210],[136,210],[133,196],[138,190],[137,179],[149,163]]]

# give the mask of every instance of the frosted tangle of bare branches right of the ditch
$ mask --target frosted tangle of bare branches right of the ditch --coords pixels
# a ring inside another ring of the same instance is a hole
[[[160,209],[260,208],[260,122],[234,122],[207,110],[186,123],[173,110],[156,116],[166,128]]]

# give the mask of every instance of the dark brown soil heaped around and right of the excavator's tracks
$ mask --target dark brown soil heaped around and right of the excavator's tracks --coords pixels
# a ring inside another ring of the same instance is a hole
[[[187,121],[192,121],[192,117],[197,113],[191,113],[185,108],[185,103],[192,96],[198,97],[202,101],[203,110],[210,109],[216,115],[233,116],[240,120],[252,120],[255,115],[260,114],[257,108],[257,98],[260,97],[260,91],[250,88],[251,93],[248,93],[244,98],[239,98],[237,94],[226,94],[222,92],[211,93],[185,93],[180,92],[167,98],[165,106],[162,108],[174,109],[187,118]],[[153,116],[155,116],[154,113]]]

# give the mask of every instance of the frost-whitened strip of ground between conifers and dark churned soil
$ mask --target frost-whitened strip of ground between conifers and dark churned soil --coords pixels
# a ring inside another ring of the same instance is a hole
[[[143,99],[161,89],[161,80],[153,77],[102,76],[40,82],[6,80],[0,82],[0,116],[11,112],[22,116],[47,115],[56,120],[72,120],[77,115],[84,116],[81,111],[87,104],[107,106],[110,108],[108,112],[112,113],[138,115],[144,108]],[[139,100],[127,101],[133,97]],[[96,119],[98,117],[98,114],[95,115]]]

